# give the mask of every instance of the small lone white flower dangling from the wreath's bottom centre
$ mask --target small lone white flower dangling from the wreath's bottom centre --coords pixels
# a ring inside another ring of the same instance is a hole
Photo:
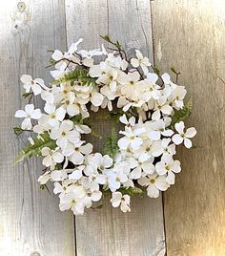
[[[123,212],[130,212],[130,196],[122,195],[121,192],[113,192],[113,198],[111,199],[111,203],[113,207],[118,207],[120,205],[120,209]]]

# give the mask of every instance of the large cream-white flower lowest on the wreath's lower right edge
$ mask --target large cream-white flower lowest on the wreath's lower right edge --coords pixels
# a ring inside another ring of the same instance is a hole
[[[138,183],[142,186],[147,186],[147,194],[150,198],[157,198],[159,191],[166,191],[170,186],[166,181],[166,177],[158,176],[156,173],[140,178]]]

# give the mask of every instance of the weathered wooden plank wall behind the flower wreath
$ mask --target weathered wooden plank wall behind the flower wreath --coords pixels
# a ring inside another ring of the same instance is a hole
[[[178,152],[183,171],[163,200],[137,200],[129,214],[106,205],[74,220],[39,190],[40,161],[13,166],[26,140],[12,133],[24,104],[19,78],[50,80],[48,50],[66,50],[79,37],[98,47],[106,33],[161,70],[181,72],[199,147]],[[0,255],[225,255],[224,37],[224,0],[1,0]]]

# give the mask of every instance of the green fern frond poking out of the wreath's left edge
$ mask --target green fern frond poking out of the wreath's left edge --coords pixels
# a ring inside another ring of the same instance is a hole
[[[49,147],[51,149],[56,148],[55,140],[51,139],[47,132],[41,134],[38,138],[33,138],[33,142],[34,144],[29,142],[23,150],[20,151],[19,155],[15,159],[15,163],[28,157],[41,156],[41,150],[43,147]]]

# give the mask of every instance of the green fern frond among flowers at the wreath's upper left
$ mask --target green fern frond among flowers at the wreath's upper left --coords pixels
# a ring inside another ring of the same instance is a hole
[[[72,85],[75,81],[80,82],[81,85],[95,85],[96,78],[91,77],[87,70],[73,70],[72,72],[69,72],[62,76],[61,78],[54,80],[52,84],[60,84],[65,82],[71,82]]]

